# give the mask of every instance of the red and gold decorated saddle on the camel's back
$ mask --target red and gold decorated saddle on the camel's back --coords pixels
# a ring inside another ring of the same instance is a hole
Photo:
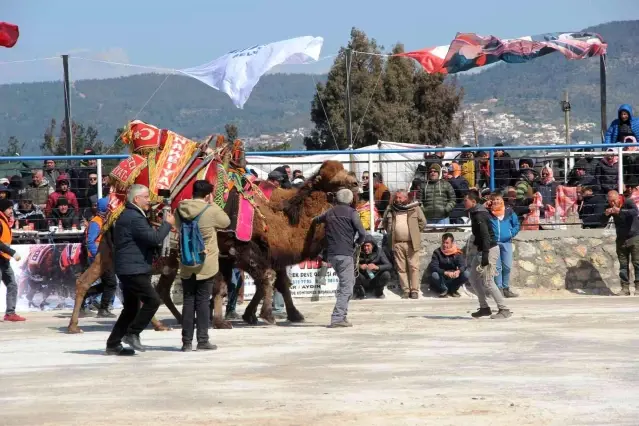
[[[193,182],[205,179],[214,187],[215,203],[231,218],[230,231],[241,241],[250,241],[257,209],[256,197],[270,199],[272,191],[262,191],[255,176],[246,171],[244,145],[240,140],[227,143],[218,136],[215,147],[194,142],[171,130],[158,129],[142,121],[131,121],[122,141],[129,146],[130,157],[110,173],[112,191],[107,220],[102,232],[115,222],[133,184],[149,188],[154,209],[163,207],[162,190],[171,192],[171,207],[193,193]]]

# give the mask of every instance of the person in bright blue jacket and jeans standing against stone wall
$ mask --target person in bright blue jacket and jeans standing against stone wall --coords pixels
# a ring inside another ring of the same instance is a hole
[[[511,208],[507,208],[501,194],[494,194],[489,201],[490,226],[495,234],[499,246],[499,260],[497,261],[497,275],[495,284],[504,297],[517,297],[510,284],[510,271],[513,266],[512,240],[519,233],[519,218]]]

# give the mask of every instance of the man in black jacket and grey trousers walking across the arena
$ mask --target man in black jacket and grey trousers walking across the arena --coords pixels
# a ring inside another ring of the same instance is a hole
[[[472,284],[477,298],[479,299],[479,310],[472,313],[473,318],[489,316],[492,319],[509,318],[512,313],[504,303],[504,296],[495,284],[497,275],[497,261],[499,260],[499,246],[495,240],[495,234],[490,226],[490,213],[486,207],[479,204],[479,193],[471,190],[464,198],[464,206],[470,214],[471,229],[473,232],[473,243],[470,247],[471,266],[470,283]],[[490,292],[499,312],[492,314],[490,306],[486,301],[486,291]]]

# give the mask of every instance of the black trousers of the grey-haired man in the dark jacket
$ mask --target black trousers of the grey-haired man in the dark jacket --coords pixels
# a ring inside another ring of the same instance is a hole
[[[118,275],[118,278],[122,288],[123,307],[107,339],[109,348],[120,345],[126,334],[139,335],[149,325],[162,303],[151,285],[151,274]]]

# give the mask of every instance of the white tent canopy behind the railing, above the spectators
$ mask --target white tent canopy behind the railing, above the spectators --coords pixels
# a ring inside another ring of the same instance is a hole
[[[432,145],[416,145],[409,143],[380,141],[378,145],[371,145],[352,151],[352,154],[316,154],[300,157],[282,155],[250,155],[246,161],[250,168],[254,169],[260,178],[266,179],[269,172],[284,164],[291,166],[293,170],[299,169],[304,176],[309,177],[319,170],[326,160],[337,160],[344,167],[361,176],[364,171],[381,172],[384,183],[391,191],[409,189],[417,166],[424,161],[423,152],[414,152],[414,149],[435,148]],[[401,153],[384,153],[384,150],[403,149]],[[370,154],[373,161],[372,170],[369,170],[369,154],[358,154],[358,151],[379,150],[379,154]],[[454,159],[459,152],[446,152],[445,159]],[[352,157],[352,158],[351,158]],[[351,162],[353,164],[351,164]],[[352,166],[352,167],[351,167]]]

